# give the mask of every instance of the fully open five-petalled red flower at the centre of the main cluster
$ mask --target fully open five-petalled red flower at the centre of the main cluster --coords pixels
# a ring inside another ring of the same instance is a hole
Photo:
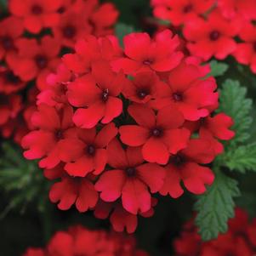
[[[142,145],[146,161],[166,164],[170,153],[185,148],[190,132],[180,128],[184,118],[174,107],[163,108],[155,115],[144,105],[130,105],[128,113],[139,125],[121,126],[120,138],[126,145]]]

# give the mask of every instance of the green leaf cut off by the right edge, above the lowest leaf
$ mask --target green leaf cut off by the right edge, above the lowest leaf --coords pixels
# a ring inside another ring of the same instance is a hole
[[[230,170],[245,173],[248,170],[256,171],[256,143],[242,145],[233,151],[227,151],[224,157],[225,166]]]

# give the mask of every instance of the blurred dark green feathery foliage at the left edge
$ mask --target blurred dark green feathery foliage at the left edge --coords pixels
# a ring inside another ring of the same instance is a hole
[[[0,188],[9,196],[0,219],[12,208],[20,208],[24,212],[29,202],[37,202],[41,207],[48,195],[48,182],[43,178],[42,170],[37,162],[26,160],[17,145],[3,143],[3,155],[0,158]]]

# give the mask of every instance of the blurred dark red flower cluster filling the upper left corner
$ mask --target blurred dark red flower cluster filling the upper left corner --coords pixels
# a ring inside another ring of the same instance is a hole
[[[71,52],[86,35],[112,34],[118,11],[98,0],[8,3],[10,14],[0,20],[0,132],[20,143],[31,128],[36,90],[48,87],[46,77],[60,64],[61,53]],[[31,88],[35,82],[37,89]]]

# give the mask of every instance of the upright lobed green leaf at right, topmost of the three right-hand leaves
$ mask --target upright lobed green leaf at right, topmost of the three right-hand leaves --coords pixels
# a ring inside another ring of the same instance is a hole
[[[250,117],[253,102],[246,98],[247,88],[242,87],[238,81],[227,79],[220,90],[219,112],[225,112],[233,118],[235,124],[232,127],[236,132],[234,139],[230,141],[231,146],[245,142],[249,137],[249,128],[253,122]]]

